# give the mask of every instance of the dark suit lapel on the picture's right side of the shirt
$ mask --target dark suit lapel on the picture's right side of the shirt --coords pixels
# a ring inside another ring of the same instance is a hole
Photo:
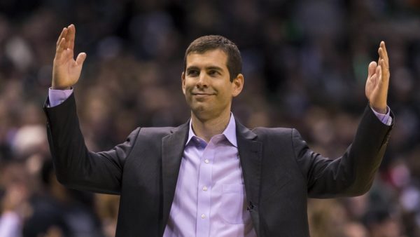
[[[237,124],[237,142],[242,175],[244,175],[248,211],[251,214],[255,232],[260,236],[260,217],[258,204],[260,202],[260,172],[262,142],[255,141],[257,135],[248,128]]]

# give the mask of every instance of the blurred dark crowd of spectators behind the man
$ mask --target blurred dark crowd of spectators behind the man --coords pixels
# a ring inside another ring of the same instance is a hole
[[[113,236],[118,196],[66,189],[52,170],[43,102],[55,43],[76,25],[86,52],[74,91],[87,146],[137,126],[178,126],[183,53],[205,34],[241,50],[233,111],[249,128],[294,127],[335,158],[367,106],[367,65],[386,41],[395,113],[371,191],[309,200],[311,236],[420,236],[420,1],[0,1],[0,237]]]

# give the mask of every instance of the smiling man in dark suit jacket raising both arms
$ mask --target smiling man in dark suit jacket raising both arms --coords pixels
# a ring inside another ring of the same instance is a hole
[[[120,194],[116,236],[309,236],[307,197],[357,196],[372,184],[388,141],[388,55],[368,67],[365,109],[353,144],[335,160],[288,128],[248,130],[230,112],[244,76],[237,46],[203,36],[186,50],[181,85],[191,119],[137,128],[111,151],[93,153],[80,133],[71,87],[76,29],[62,30],[45,103],[57,178],[75,189]]]

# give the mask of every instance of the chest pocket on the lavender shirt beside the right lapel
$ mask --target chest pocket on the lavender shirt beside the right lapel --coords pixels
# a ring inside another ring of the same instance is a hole
[[[241,224],[251,221],[246,210],[246,194],[244,184],[223,184],[221,198],[221,216],[230,224]]]

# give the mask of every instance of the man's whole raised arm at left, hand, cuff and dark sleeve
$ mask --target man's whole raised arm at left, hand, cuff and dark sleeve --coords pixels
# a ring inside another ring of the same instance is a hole
[[[48,142],[57,179],[67,187],[119,194],[123,165],[130,154],[139,129],[127,141],[110,151],[91,152],[80,131],[72,87],[78,82],[86,54],[74,60],[76,27],[64,27],[57,39],[52,67],[52,83],[44,111]]]

